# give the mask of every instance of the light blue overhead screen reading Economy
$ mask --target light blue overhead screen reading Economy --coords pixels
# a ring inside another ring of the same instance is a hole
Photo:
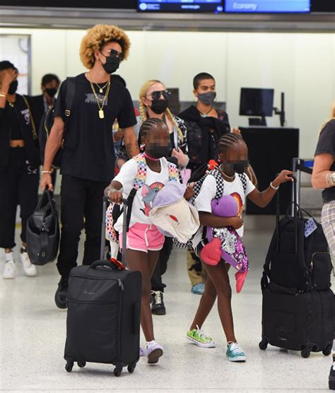
[[[225,0],[225,12],[307,13],[310,0]]]

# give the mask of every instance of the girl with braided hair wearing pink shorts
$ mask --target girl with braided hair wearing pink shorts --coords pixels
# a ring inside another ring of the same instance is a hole
[[[127,245],[120,244],[127,252],[127,265],[130,270],[141,271],[141,326],[146,338],[148,363],[157,363],[163,355],[163,346],[155,341],[153,334],[153,318],[151,315],[151,276],[155,269],[160,250],[165,237],[151,223],[150,211],[155,195],[173,178],[179,182],[178,170],[175,164],[168,163],[166,157],[170,152],[170,137],[167,125],[161,119],[147,119],[140,129],[141,144],[145,146],[144,153],[128,160],[122,165],[119,174],[114,177],[105,196],[114,204],[121,204],[122,198],[128,198],[134,188],[138,173],[143,173],[146,165],[146,176],[142,187],[137,189],[131,206],[131,218],[127,233]],[[141,158],[141,165],[139,165]],[[172,176],[173,175],[173,176]],[[188,187],[184,197],[192,196],[192,187]],[[122,215],[114,225],[122,240]],[[143,354],[143,353],[142,353]]]

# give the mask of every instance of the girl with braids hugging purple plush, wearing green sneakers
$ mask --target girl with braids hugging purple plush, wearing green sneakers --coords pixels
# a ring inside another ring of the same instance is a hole
[[[237,134],[225,134],[218,139],[218,157],[221,160],[221,165],[213,170],[217,171],[215,175],[213,171],[207,175],[194,201],[194,206],[199,211],[201,225],[213,228],[233,227],[238,235],[242,236],[242,210],[245,197],[248,197],[250,201],[254,202],[254,204],[257,204],[259,207],[267,206],[276,194],[280,184],[293,180],[292,177],[290,177],[293,175],[293,172],[289,170],[281,171],[265,191],[259,192],[247,176],[247,145],[242,137]],[[216,180],[217,178],[220,180],[222,179],[223,182],[218,182]],[[220,217],[212,213],[211,201],[217,199],[217,194],[221,194],[221,196],[231,195],[237,200],[237,204],[239,205],[237,216]],[[198,246],[197,252],[200,252],[200,249],[201,244]],[[187,332],[187,339],[201,347],[208,348],[215,346],[211,337],[206,336],[201,330],[201,327],[217,297],[218,314],[227,341],[226,356],[230,361],[245,361],[245,353],[237,343],[234,332],[233,312],[231,307],[232,293],[228,277],[228,265],[225,264],[223,259],[216,265],[204,265],[208,274],[205,282],[205,291],[201,296],[194,321]]]

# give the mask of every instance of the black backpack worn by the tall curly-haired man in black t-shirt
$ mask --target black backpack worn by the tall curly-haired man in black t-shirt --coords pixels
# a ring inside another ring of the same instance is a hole
[[[66,78],[66,96],[65,96],[65,130],[66,124],[69,122],[69,117],[71,115],[71,109],[74,105],[74,95],[76,93],[76,77],[69,76]],[[50,131],[54,125],[54,105],[50,105],[45,115],[42,117],[40,124],[40,129],[38,133],[38,142],[40,143],[40,154],[42,164],[45,162],[45,145],[47,144],[47,139],[49,138]],[[64,144],[64,140],[63,140]],[[61,167],[61,156],[63,154],[63,146],[57,151],[56,156],[54,156],[54,161],[52,167],[58,169]]]

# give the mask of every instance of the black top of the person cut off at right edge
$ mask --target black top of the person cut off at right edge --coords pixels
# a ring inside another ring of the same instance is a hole
[[[315,156],[322,153],[329,153],[335,160],[335,119],[328,122],[320,133]],[[331,165],[330,170],[335,170],[335,163]],[[325,204],[335,201],[335,187],[324,189],[322,199]]]

